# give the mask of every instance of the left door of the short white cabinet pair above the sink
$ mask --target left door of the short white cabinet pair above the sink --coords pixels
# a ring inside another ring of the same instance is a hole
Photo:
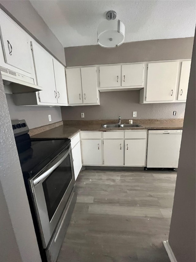
[[[100,66],[100,87],[120,86],[121,66]]]

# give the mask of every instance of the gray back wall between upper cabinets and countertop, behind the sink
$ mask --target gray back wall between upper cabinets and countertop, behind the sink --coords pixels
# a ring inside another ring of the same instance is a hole
[[[85,120],[91,119],[134,119],[183,118],[186,103],[139,104],[139,90],[100,92],[100,106],[62,107],[63,120],[82,120],[80,113],[85,113]],[[176,116],[173,116],[176,111]]]

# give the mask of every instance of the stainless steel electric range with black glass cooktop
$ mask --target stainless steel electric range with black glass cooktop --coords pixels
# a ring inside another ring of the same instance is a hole
[[[76,202],[70,139],[32,139],[12,121],[42,261],[54,262]]]

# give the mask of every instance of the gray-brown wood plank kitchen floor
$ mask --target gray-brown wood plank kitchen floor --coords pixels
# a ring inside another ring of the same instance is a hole
[[[169,262],[176,173],[84,170],[57,262]]]

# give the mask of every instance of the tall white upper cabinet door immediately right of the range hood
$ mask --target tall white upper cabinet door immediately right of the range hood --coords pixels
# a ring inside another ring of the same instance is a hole
[[[40,102],[57,103],[53,59],[37,43],[33,42],[32,46],[37,84],[43,88],[40,91]]]

